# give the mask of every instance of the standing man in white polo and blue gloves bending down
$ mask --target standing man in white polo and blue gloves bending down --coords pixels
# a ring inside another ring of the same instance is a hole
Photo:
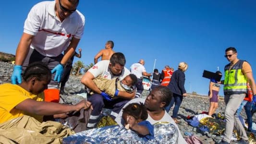
[[[22,70],[29,63],[43,61],[54,73],[48,86],[57,87],[63,67],[84,33],[85,17],[76,10],[78,3],[79,0],[43,1],[30,10],[16,50],[12,84],[21,84]]]

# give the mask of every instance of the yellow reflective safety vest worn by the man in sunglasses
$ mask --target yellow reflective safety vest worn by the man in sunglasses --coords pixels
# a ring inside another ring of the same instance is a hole
[[[246,94],[247,79],[242,72],[244,60],[225,66],[224,95]]]

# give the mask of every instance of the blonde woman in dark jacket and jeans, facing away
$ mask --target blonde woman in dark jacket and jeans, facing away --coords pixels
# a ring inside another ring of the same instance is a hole
[[[179,108],[181,106],[183,96],[187,96],[184,84],[185,84],[185,71],[187,70],[188,65],[186,62],[180,62],[178,66],[178,70],[172,73],[171,82],[168,85],[168,88],[171,90],[173,94],[173,98],[171,99],[171,103],[169,106],[165,108],[167,112],[170,111],[171,106],[175,102],[175,106],[172,112],[172,119],[179,123],[177,120],[177,115],[179,112]]]

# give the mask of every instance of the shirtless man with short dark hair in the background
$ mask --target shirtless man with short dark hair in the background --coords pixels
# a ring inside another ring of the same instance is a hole
[[[105,49],[101,49],[98,54],[94,57],[94,64],[98,62],[98,58],[101,57],[101,60],[110,60],[115,51],[113,50],[114,42],[109,40],[105,45]]]

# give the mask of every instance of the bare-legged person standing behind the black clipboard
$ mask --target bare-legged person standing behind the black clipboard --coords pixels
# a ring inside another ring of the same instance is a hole
[[[222,75],[220,71],[215,72],[219,75]],[[209,99],[210,99],[210,107],[208,111],[208,115],[212,116],[215,113],[215,110],[218,108],[218,101],[219,101],[219,88],[220,82],[217,82],[214,78],[211,78],[209,84]]]

